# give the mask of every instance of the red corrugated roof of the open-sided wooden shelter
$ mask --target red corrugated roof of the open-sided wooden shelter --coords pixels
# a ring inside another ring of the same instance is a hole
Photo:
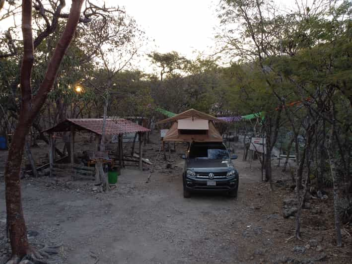
[[[75,131],[90,131],[101,135],[103,130],[103,119],[82,118],[82,119],[67,119],[53,128],[47,129],[43,132],[69,132],[70,127],[74,126]],[[134,132],[148,132],[136,123],[126,119],[106,119],[105,134],[116,135]]]

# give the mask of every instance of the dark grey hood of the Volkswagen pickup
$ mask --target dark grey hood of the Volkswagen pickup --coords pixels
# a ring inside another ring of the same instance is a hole
[[[231,160],[221,159],[189,159],[187,160],[187,169],[197,172],[223,172],[233,169]]]

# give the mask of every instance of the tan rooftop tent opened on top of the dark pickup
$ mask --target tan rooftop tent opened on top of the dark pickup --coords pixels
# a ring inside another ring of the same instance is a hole
[[[210,115],[191,109],[160,123],[174,122],[164,141],[222,142],[222,136],[213,122],[223,122]]]

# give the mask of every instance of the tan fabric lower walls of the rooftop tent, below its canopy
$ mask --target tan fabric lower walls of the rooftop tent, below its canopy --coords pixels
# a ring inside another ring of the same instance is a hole
[[[180,120],[181,121],[181,120]],[[197,130],[192,130],[197,131]],[[183,141],[183,142],[222,142],[222,136],[215,129],[212,122],[209,122],[208,130],[198,130],[198,134],[183,134],[182,130],[178,129],[178,122],[174,122],[163,138],[164,141]],[[203,132],[203,133],[201,133]]]

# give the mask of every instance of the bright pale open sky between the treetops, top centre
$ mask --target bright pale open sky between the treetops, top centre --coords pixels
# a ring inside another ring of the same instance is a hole
[[[199,53],[211,54],[214,27],[218,26],[215,8],[219,0],[110,0],[118,3],[136,19],[150,40],[143,51],[167,53],[176,51],[188,59]],[[145,60],[147,60],[145,58]],[[150,63],[141,62],[145,67]]]

